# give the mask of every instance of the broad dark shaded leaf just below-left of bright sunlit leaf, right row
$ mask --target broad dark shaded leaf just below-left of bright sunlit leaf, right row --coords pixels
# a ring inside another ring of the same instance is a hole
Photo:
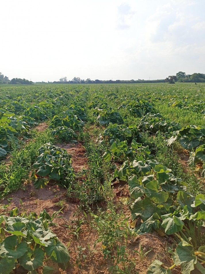
[[[160,209],[156,207],[152,200],[148,197],[145,197],[143,200],[139,197],[131,205],[131,216],[132,220],[137,219],[138,216],[141,217],[143,222],[149,219],[154,213],[160,215]]]

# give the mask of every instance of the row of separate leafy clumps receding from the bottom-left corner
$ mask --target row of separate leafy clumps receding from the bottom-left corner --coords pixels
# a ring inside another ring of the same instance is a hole
[[[87,90],[78,93],[72,104],[65,106],[63,112],[53,117],[50,128],[55,140],[75,141],[75,131],[80,131],[86,121],[86,97]],[[45,187],[51,179],[65,187],[74,180],[71,156],[65,150],[46,143],[38,149],[38,154],[30,178],[35,179],[36,189]],[[44,209],[39,216],[34,212],[19,216],[15,208],[9,217],[1,215],[0,273],[9,274],[13,269],[22,273],[37,273],[39,267],[43,267],[43,273],[53,273],[52,267],[43,264],[49,260],[58,264],[62,270],[68,267],[68,249],[50,229],[55,225],[54,219],[59,213],[54,212],[50,216]]]

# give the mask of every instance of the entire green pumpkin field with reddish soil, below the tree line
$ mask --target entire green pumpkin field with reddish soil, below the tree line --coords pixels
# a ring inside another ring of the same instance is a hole
[[[205,84],[0,87],[0,273],[205,273]]]

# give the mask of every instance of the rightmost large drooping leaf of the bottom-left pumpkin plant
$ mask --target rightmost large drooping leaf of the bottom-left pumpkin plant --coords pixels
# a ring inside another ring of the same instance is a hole
[[[45,247],[47,256],[51,257],[53,262],[66,263],[70,260],[68,249],[60,241],[51,239],[47,242],[48,246]]]

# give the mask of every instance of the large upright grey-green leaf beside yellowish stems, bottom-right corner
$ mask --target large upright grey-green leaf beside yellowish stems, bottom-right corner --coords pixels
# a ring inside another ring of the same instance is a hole
[[[180,242],[174,253],[174,263],[180,265],[182,274],[189,274],[194,269],[197,258],[193,246],[184,240]]]

